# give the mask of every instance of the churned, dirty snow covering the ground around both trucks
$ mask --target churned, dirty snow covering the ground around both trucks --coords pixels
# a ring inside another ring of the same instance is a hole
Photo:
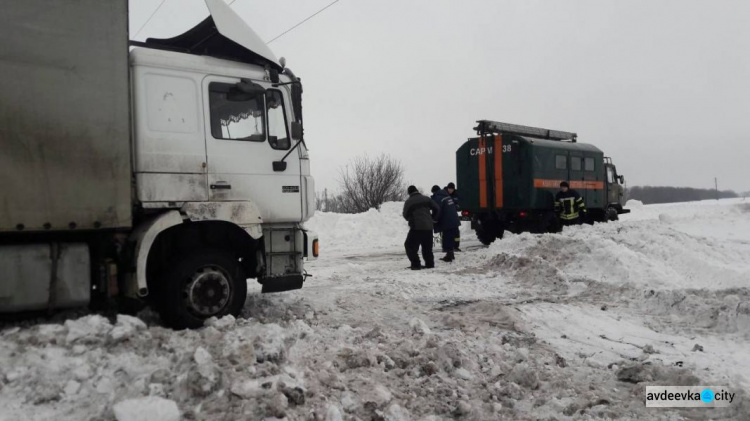
[[[0,420],[750,419],[750,201],[631,209],[489,247],[465,226],[456,262],[418,272],[401,204],[319,213],[314,277],[251,281],[237,320],[5,325]],[[645,408],[649,384],[738,397]]]

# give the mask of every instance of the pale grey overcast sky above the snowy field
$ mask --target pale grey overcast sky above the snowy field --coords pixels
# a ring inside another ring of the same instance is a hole
[[[160,1],[130,0],[131,37]],[[268,40],[330,1],[232,8]],[[202,0],[165,0],[135,39],[207,14]],[[718,177],[750,190],[746,0],[340,0],[270,47],[303,80],[321,190],[363,153],[397,157],[418,186],[455,181],[479,119],[577,132],[631,186]]]

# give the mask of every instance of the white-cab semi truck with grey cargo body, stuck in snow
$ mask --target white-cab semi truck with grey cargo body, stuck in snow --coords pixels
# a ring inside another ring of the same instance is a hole
[[[222,0],[129,39],[128,0],[0,0],[0,313],[237,315],[318,239],[301,80]]]

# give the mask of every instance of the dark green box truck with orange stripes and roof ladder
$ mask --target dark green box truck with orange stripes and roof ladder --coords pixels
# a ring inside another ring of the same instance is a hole
[[[480,120],[478,137],[456,151],[462,216],[484,244],[505,231],[558,232],[554,197],[562,181],[577,190],[588,222],[618,219],[625,178],[596,146],[575,133]]]

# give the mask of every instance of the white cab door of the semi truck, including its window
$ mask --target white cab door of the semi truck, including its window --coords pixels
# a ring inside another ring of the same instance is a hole
[[[263,81],[265,95],[239,91],[237,78],[207,76],[203,81],[210,201],[252,201],[264,222],[302,218],[299,149],[284,171],[274,171],[292,148],[289,95]]]

